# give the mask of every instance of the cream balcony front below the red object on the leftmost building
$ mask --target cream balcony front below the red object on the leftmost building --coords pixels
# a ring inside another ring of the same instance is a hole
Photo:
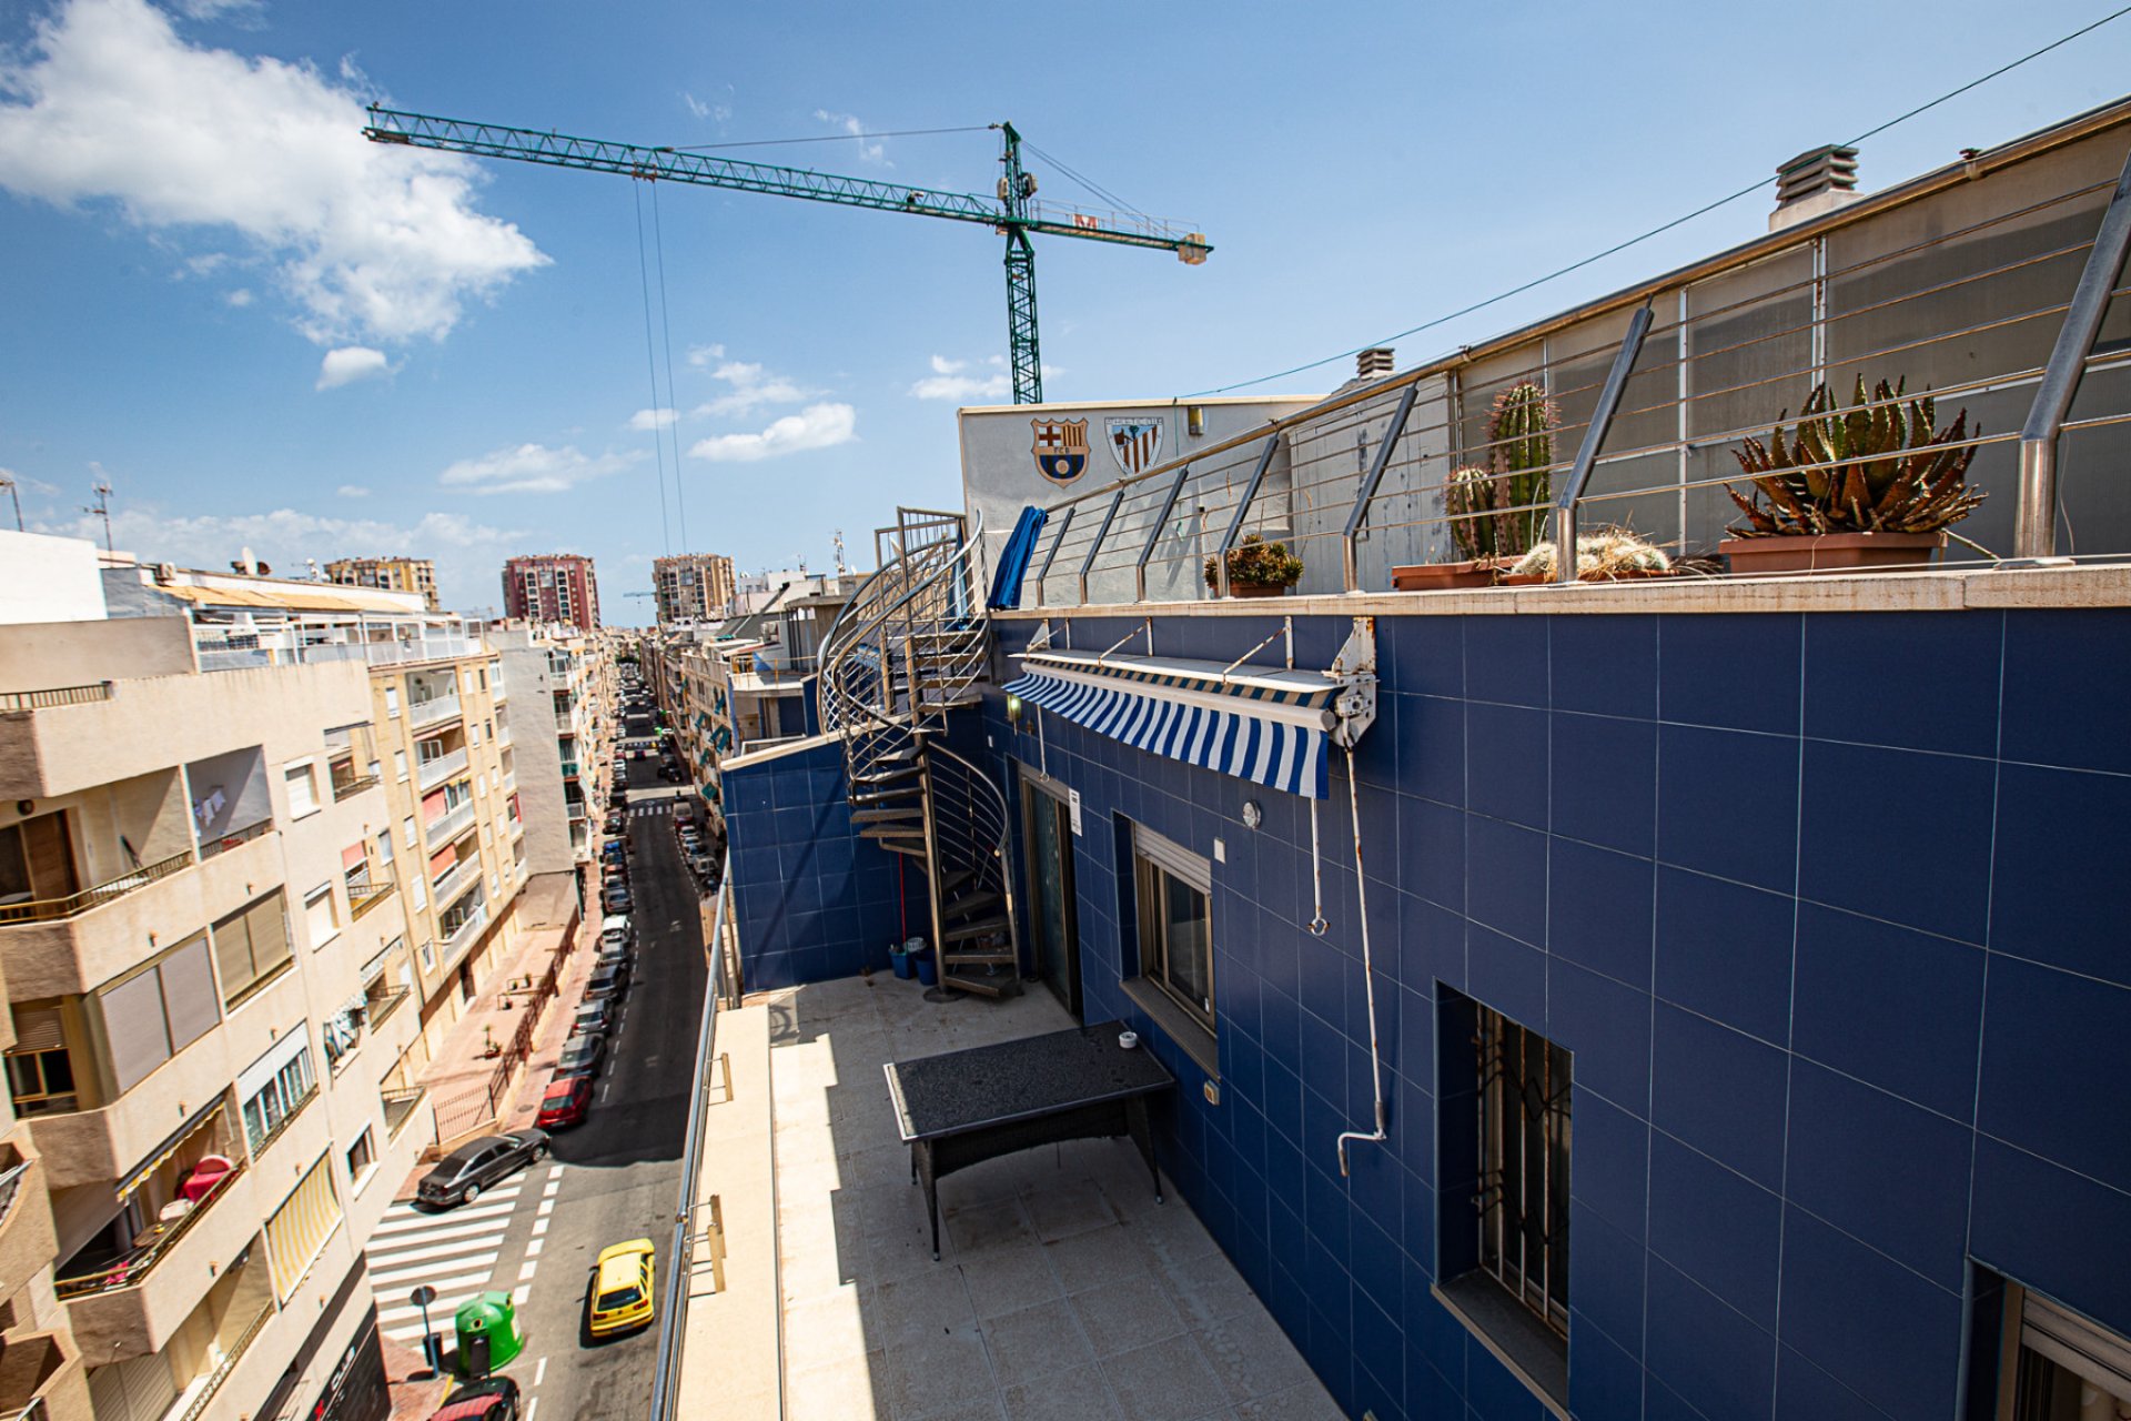
[[[190,1210],[143,1231],[124,1257],[55,1278],[85,1355],[145,1357],[183,1327],[260,1221],[243,1161]]]

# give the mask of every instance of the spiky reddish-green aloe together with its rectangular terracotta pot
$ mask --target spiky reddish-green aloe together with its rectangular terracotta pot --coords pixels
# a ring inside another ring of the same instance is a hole
[[[1946,545],[1946,526],[1984,501],[1967,484],[1975,458],[1969,411],[1939,430],[1937,403],[1929,394],[1905,403],[1905,383],[1882,379],[1865,398],[1858,375],[1850,409],[1839,409],[1822,381],[1799,411],[1792,437],[1784,437],[1777,415],[1769,443],[1747,439],[1733,450],[1754,496],[1724,486],[1745,513],[1743,524],[1728,528],[1733,537],[1718,543],[1730,571],[1920,567]]]

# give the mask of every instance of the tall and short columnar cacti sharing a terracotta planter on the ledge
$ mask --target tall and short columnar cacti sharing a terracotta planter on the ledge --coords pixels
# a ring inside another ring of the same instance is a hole
[[[1394,567],[1392,586],[1400,592],[1487,586],[1530,552],[1547,530],[1556,424],[1560,413],[1536,383],[1522,379],[1498,394],[1487,415],[1487,467],[1455,469],[1443,488],[1451,541],[1464,558]]]

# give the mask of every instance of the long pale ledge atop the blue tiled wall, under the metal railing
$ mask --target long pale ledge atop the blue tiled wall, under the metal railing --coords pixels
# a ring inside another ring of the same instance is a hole
[[[1347,592],[1187,603],[1089,603],[993,611],[1006,622],[1144,616],[1626,616],[1694,611],[1973,611],[1978,607],[2131,607],[2131,565],[1975,567],[1792,577],[1649,577],[1543,588]]]

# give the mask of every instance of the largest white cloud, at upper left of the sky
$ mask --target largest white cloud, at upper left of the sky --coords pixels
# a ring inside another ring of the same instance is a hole
[[[0,185],[234,239],[313,341],[441,339],[548,258],[473,209],[471,160],[364,141],[362,102],[309,64],[194,47],[147,0],[64,0],[0,55]]]

